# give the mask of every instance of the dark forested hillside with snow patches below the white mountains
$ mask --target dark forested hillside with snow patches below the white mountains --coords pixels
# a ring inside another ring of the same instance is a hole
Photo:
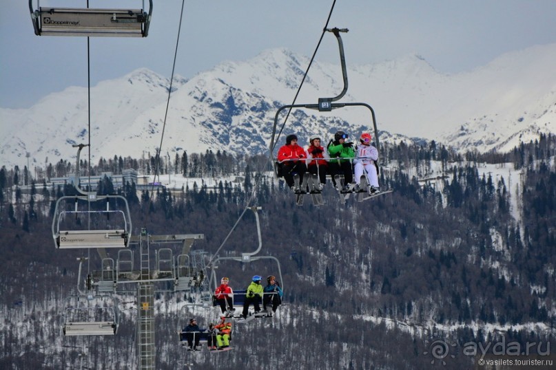
[[[133,168],[152,175],[158,167],[182,177],[241,177],[215,188],[200,182],[154,194],[129,183],[114,188],[105,177],[98,189],[125,196],[134,224],[156,234],[204,233],[195,248],[207,252],[220,246],[254,192],[254,204],[262,206],[263,252],[282,265],[287,288],[280,312],[272,323],[238,328],[236,350],[220,358],[204,352],[187,357],[173,335],[184,318],[162,308],[180,297],[159,296],[157,369],[185,361],[216,369],[223,358],[230,369],[277,369],[292,359],[305,369],[424,369],[431,364],[424,353],[437,338],[460,349],[446,366],[463,369],[475,360],[461,351],[468,342],[503,337],[522,345],[550,342],[556,349],[555,157],[554,135],[510,153],[461,154],[435,142],[384,145],[381,162],[389,169],[381,171],[380,182],[393,193],[342,205],[329,186],[319,207],[296,206],[289,190],[268,175],[262,156],[207,151],[158,165],[154,158],[114,156],[90,171]],[[419,182],[437,175],[435,164],[442,168],[437,185]],[[480,175],[485,164],[521,171],[519,194],[511,194],[503,178]],[[48,322],[74,290],[81,255],[53,247],[53,204],[74,188],[54,188],[48,179],[72,171],[74,164],[65,161],[34,177],[28,168],[0,169],[1,368],[55,369],[78,360],[77,351],[63,345],[80,342],[61,338]],[[519,199],[518,210],[511,197]],[[255,244],[254,219],[247,215],[220,253],[238,255]],[[238,267],[230,277],[243,288],[254,273],[262,272]],[[136,362],[133,341],[133,318],[126,316],[115,338],[87,340],[87,361],[127,369]]]

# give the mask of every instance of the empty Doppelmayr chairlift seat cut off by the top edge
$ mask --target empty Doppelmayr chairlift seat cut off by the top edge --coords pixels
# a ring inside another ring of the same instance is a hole
[[[141,9],[42,8],[29,0],[34,34],[37,36],[147,37],[152,16]]]

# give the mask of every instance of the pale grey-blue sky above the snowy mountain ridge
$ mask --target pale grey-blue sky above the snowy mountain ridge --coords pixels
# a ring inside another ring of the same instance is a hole
[[[145,0],[145,6],[148,1]],[[37,8],[37,0],[33,0]],[[40,0],[86,8],[86,0]],[[176,74],[244,61],[286,47],[311,56],[333,0],[186,0]],[[91,83],[147,67],[172,74],[181,0],[154,0],[149,36],[90,39]],[[90,8],[141,8],[142,0],[89,0]],[[555,0],[337,0],[330,27],[342,35],[348,65],[419,54],[438,72],[485,65],[500,54],[556,43]],[[338,61],[325,37],[317,60]],[[87,38],[35,36],[27,0],[2,0],[0,107],[26,108],[68,86],[87,86]]]

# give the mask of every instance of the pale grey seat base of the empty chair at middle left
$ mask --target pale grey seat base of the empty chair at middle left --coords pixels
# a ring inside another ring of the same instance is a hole
[[[125,248],[125,230],[68,230],[59,232],[56,246],[60,249],[72,248]]]

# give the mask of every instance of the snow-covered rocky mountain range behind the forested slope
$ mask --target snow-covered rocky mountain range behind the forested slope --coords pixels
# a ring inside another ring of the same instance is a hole
[[[318,59],[318,56],[317,56]],[[504,54],[462,74],[440,74],[408,55],[384,63],[348,66],[349,89],[340,102],[373,107],[378,128],[479,151],[506,151],[556,132],[556,44]],[[349,55],[348,55],[349,64]],[[278,108],[293,102],[309,58],[285,49],[249,61],[227,61],[190,80],[176,78],[164,125],[169,80],[148,69],[106,80],[91,89],[91,155],[141,157],[144,152],[206,149],[264,153]],[[339,64],[314,62],[296,104],[313,104],[342,90]],[[68,87],[30,109],[0,109],[0,164],[22,166],[25,154],[40,166],[74,157],[71,144],[87,143],[87,89]],[[285,114],[278,118],[281,124]],[[283,133],[329,138],[371,127],[369,111],[292,111]],[[164,133],[164,134],[163,134]],[[283,134],[282,133],[282,134]],[[327,141],[323,139],[323,141]],[[283,142],[283,138],[278,144]]]

